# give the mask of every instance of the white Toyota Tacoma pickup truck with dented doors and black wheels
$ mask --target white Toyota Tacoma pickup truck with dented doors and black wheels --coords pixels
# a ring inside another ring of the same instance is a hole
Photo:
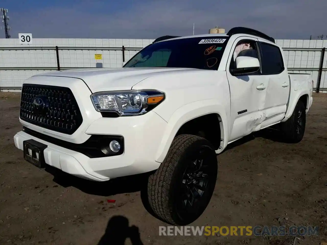
[[[154,213],[185,225],[207,207],[229,143],[275,124],[301,141],[313,81],[287,73],[273,38],[245,27],[170,37],[122,68],[28,78],[14,136],[26,161],[94,181],[148,173]]]

